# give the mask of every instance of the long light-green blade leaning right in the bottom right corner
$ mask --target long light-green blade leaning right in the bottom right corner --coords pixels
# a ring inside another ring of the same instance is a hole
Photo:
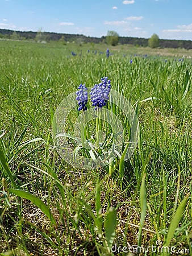
[[[172,238],[174,236],[174,232],[176,231],[176,228],[177,228],[178,224],[180,223],[182,214],[185,210],[185,206],[186,206],[188,197],[189,197],[189,193],[186,195],[186,197],[183,199],[181,204],[178,206],[176,213],[174,214],[172,221],[170,222],[168,234],[167,234],[166,241],[165,241],[165,246],[170,245],[170,241],[172,240]]]

